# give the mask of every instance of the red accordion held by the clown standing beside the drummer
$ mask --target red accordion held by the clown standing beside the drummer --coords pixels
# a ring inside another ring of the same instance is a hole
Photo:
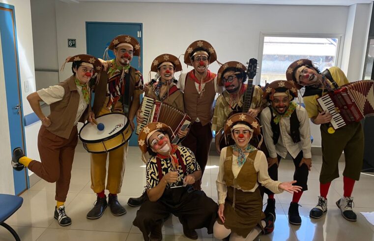
[[[144,96],[142,106],[142,114],[144,118],[142,123],[138,123],[136,134],[139,135],[145,125],[150,122],[162,122],[170,126],[173,130],[173,137],[170,137],[171,143],[177,144],[180,141],[178,137],[179,130],[185,130],[191,123],[191,118],[181,110],[153,99]]]

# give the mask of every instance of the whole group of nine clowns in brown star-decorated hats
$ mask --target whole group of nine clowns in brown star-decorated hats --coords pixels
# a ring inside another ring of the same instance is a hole
[[[146,187],[140,197],[130,198],[128,205],[141,206],[133,224],[145,241],[162,240],[163,223],[171,214],[179,218],[184,235],[190,239],[198,239],[196,229],[205,227],[217,239],[254,240],[261,233],[274,230],[274,194],[283,191],[293,193],[288,220],[300,225],[298,202],[308,190],[312,167],[309,119],[320,124],[323,154],[320,196],[310,217],[320,218],[326,213],[327,193],[331,181],[339,177],[338,160],[344,151],[344,196],[336,205],[345,219],[356,221],[351,194],[362,167],[362,126],[355,122],[332,130],[331,114],[322,111],[316,100],[348,83],[339,68],[321,73],[310,60],[296,60],[285,70],[287,80],[252,86],[251,105],[244,113],[240,111],[247,89],[246,67],[230,61],[222,64],[217,74],[210,72],[208,67],[217,60],[217,54],[206,41],[198,40],[188,46],[184,63],[193,69],[182,72],[178,80],[174,74],[182,70],[179,59],[169,53],[156,57],[150,70],[157,76],[146,84],[142,73],[130,66],[133,56],[140,56],[140,44],[135,38],[119,35],[108,49],[115,54],[112,60],[87,54],[68,57],[65,63],[72,62],[71,77],[27,97],[42,123],[38,134],[41,162],[25,156],[20,147],[13,150],[11,162],[16,170],[27,167],[44,180],[56,182],[54,217],[59,225],[71,224],[64,202],[78,142],[77,122],[92,123],[95,117],[120,112],[135,129],[134,119],[143,121],[143,93],[182,110],[192,119],[187,130],[177,133],[182,138],[179,145],[171,144],[174,134],[167,123],[148,123],[139,133],[138,144],[146,162]],[[293,101],[302,87],[305,108]],[[217,93],[220,96],[213,106]],[[40,101],[50,105],[49,116],[43,114]],[[230,115],[233,111],[238,113]],[[201,191],[212,131],[220,153],[217,203]],[[233,145],[220,149],[222,137],[231,138]],[[97,199],[87,218],[101,217],[108,206],[114,216],[126,213],[117,194],[121,191],[127,150],[126,143],[107,153],[90,154],[91,189]],[[295,171],[291,181],[280,182],[278,167],[287,154],[292,157]],[[262,212],[264,193],[268,199]]]

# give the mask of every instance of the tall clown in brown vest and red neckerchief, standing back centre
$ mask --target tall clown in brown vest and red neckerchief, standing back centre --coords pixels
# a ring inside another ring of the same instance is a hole
[[[222,87],[217,84],[217,75],[208,69],[209,64],[216,59],[216,51],[210,43],[204,40],[193,42],[185,51],[184,63],[194,69],[182,73],[177,83],[178,88],[183,91],[185,111],[192,119],[190,132],[182,144],[196,153],[202,173],[213,139],[210,125],[213,102],[216,93],[222,93]],[[201,190],[201,180],[195,184],[195,188]]]

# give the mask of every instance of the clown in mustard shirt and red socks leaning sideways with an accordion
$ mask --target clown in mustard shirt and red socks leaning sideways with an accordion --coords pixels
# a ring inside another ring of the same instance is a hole
[[[349,81],[345,73],[338,67],[331,67],[323,72],[313,66],[309,59],[299,59],[290,64],[286,72],[287,80],[295,82],[298,88],[305,86],[303,101],[309,118],[315,124],[320,124],[322,141],[322,168],[319,175],[320,196],[315,208],[310,212],[310,217],[320,218],[327,211],[327,193],[330,183],[339,177],[338,162],[342,152],[345,154],[344,170],[344,197],[336,204],[343,217],[356,221],[357,216],[352,210],[353,197],[351,197],[355,181],[359,180],[363,155],[364,137],[360,122],[353,122],[342,128],[334,130],[329,126],[332,115],[322,111],[317,98],[325,95]]]

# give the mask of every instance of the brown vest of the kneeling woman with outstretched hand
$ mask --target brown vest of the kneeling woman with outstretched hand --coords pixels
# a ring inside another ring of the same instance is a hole
[[[247,160],[240,169],[236,179],[232,173],[232,147],[226,149],[226,159],[224,163],[225,174],[224,181],[228,187],[238,188],[241,190],[251,190],[257,183],[257,171],[254,166],[257,150],[249,153]]]

